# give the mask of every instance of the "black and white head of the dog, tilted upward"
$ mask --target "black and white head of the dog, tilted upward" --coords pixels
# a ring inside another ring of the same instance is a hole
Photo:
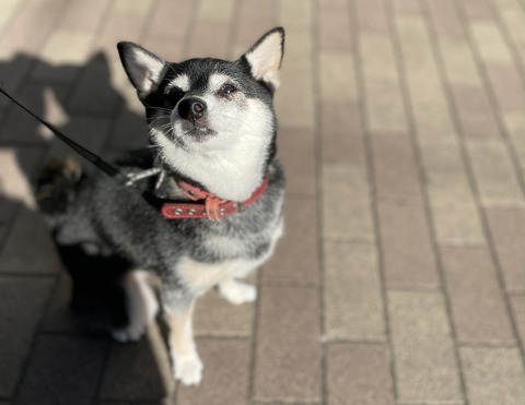
[[[276,153],[272,96],[283,45],[284,31],[275,28],[234,62],[168,63],[136,44],[119,43],[164,163],[220,198],[247,199]]]

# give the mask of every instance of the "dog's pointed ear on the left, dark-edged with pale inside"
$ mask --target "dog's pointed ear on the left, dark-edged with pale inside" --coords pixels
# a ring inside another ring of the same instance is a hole
[[[143,99],[159,86],[167,63],[133,43],[118,43],[117,48],[129,81]]]

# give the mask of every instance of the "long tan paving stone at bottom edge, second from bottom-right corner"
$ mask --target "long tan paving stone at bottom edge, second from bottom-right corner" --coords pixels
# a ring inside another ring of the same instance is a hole
[[[459,371],[443,296],[388,293],[399,402],[462,402]]]

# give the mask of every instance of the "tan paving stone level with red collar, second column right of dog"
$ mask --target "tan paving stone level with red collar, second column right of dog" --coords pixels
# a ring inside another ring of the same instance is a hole
[[[325,238],[375,240],[365,169],[362,166],[324,165],[322,181]]]

